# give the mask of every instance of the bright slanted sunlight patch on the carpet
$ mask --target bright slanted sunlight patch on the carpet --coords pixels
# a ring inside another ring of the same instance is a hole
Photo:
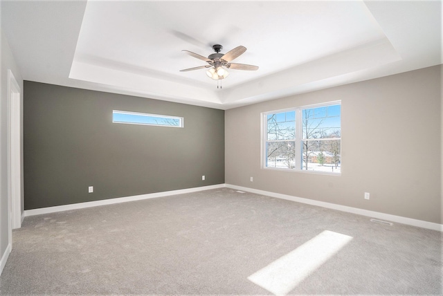
[[[287,295],[351,240],[348,235],[325,230],[248,279],[274,295]]]

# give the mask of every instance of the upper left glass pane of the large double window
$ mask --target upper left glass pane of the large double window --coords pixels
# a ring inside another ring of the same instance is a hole
[[[296,138],[296,113],[275,113],[266,116],[267,135],[266,140],[293,140]]]

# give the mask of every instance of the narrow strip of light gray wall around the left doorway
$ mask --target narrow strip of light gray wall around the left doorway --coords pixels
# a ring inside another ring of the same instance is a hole
[[[1,7],[1,6],[0,6]],[[0,30],[0,259],[6,251],[8,241],[8,69],[17,80],[23,100],[23,80],[14,56],[8,45],[6,35]],[[23,163],[23,162],[22,162]]]

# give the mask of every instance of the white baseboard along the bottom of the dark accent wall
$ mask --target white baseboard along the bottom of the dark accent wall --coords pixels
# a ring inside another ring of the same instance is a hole
[[[86,203],[73,203],[71,205],[57,205],[55,207],[42,207],[40,209],[25,210],[24,216],[51,214],[51,213],[55,213],[55,212],[84,209],[86,207],[97,207],[99,205],[112,205],[115,203],[126,203],[128,201],[141,201],[142,199],[147,199],[147,198],[157,198],[157,197],[170,196],[170,195],[175,195],[175,194],[199,192],[199,191],[203,191],[203,190],[216,189],[216,188],[221,188],[221,187],[225,187],[225,185],[224,184],[217,184],[217,185],[210,185],[210,186],[204,186],[204,187],[194,187],[194,188],[188,188],[188,189],[172,190],[172,191],[166,191],[166,192],[156,192],[156,193],[141,194],[141,195],[135,195],[135,196],[109,198],[109,199],[104,199],[102,201],[88,201]]]

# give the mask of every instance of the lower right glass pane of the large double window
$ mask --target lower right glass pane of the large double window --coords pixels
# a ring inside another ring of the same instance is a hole
[[[341,140],[302,141],[302,169],[341,172]]]

